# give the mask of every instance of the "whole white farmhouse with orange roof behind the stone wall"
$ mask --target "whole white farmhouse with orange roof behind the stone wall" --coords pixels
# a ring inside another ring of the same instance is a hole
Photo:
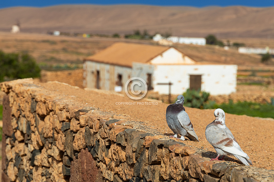
[[[160,94],[182,94],[188,88],[212,95],[236,92],[237,65],[200,64],[172,47],[114,43],[84,59],[84,87],[115,90],[132,77]],[[162,84],[161,84],[162,83]],[[144,90],[144,88],[140,89]]]

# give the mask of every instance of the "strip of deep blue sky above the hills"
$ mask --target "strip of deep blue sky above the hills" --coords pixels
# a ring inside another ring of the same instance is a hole
[[[14,7],[14,6],[31,6],[31,7],[45,7],[60,4],[99,4],[99,5],[112,5],[112,4],[146,4],[156,6],[193,6],[193,7],[206,7],[206,6],[248,6],[248,7],[274,7],[274,0],[196,0],[196,1],[161,1],[161,0],[0,0],[0,8]]]

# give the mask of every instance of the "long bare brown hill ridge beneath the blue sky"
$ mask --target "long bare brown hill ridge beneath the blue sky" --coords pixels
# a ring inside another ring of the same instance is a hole
[[[60,30],[127,34],[133,30],[175,36],[274,37],[274,7],[158,7],[146,5],[60,5],[0,9],[0,31],[17,21],[22,32]]]

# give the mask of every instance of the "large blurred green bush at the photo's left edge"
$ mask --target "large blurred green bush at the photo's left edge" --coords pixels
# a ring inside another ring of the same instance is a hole
[[[30,77],[40,77],[40,68],[29,54],[0,51],[0,82]]]

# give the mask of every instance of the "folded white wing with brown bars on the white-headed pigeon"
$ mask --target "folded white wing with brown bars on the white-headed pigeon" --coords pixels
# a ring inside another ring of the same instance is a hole
[[[248,157],[247,154],[242,151],[239,144],[234,141],[234,137],[231,137],[225,129],[211,125],[206,128],[205,137],[214,148],[220,148],[231,154]]]

